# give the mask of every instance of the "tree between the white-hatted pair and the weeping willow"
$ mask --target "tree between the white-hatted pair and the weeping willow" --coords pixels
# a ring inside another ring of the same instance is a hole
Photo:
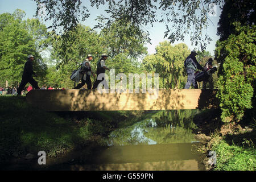
[[[137,37],[135,31],[136,27],[122,22],[114,22],[112,26],[101,31],[105,47],[108,47],[109,58],[106,64],[109,68],[115,69],[115,75],[124,73],[128,78],[129,73],[142,72],[138,59],[147,54],[147,48],[143,46],[146,37]]]

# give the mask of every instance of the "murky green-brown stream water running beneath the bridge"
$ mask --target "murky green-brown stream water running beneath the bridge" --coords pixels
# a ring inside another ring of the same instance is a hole
[[[54,170],[204,170],[192,129],[197,110],[151,111],[144,119],[121,123],[106,146],[88,146],[47,165],[32,162],[30,169]]]

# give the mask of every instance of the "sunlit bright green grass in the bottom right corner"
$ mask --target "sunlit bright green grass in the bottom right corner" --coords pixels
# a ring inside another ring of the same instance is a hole
[[[254,171],[256,169],[255,131],[225,138],[214,137],[212,150],[217,154],[217,166],[220,171]]]

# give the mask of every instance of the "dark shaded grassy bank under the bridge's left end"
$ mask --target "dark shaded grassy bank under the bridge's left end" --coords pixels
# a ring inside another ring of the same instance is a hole
[[[118,123],[141,112],[49,113],[28,105],[26,97],[0,97],[0,161],[46,151],[57,156],[86,145],[106,144]],[[115,118],[115,119],[113,119]]]

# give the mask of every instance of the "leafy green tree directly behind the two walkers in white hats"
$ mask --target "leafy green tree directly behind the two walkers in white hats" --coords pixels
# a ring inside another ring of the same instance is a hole
[[[96,31],[81,24],[77,26],[76,30],[69,31],[68,34],[74,39],[68,40],[51,32],[51,58],[55,60],[55,71],[51,68],[47,78],[52,84],[55,81],[57,87],[72,88],[73,81],[70,79],[72,71],[77,69],[90,53],[94,57],[92,68],[96,72],[97,60],[100,59],[101,53],[106,52],[107,47],[104,39]],[[62,49],[63,44],[67,49]]]

